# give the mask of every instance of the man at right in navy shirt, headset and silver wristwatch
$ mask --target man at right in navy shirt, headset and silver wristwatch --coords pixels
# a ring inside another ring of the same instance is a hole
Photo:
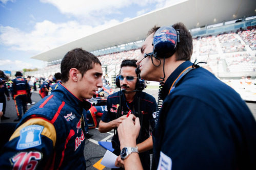
[[[154,27],[141,47],[140,76],[161,83],[163,100],[152,133],[152,169],[256,169],[253,115],[237,92],[191,63],[191,55],[183,23]],[[134,152],[139,129],[132,116],[117,129],[125,169],[142,169]]]

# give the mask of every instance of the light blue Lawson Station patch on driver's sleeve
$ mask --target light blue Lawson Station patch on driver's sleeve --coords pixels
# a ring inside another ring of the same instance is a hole
[[[30,125],[24,127],[20,133],[20,137],[17,143],[17,149],[23,150],[27,148],[36,147],[41,145],[41,133],[44,127],[39,125]]]

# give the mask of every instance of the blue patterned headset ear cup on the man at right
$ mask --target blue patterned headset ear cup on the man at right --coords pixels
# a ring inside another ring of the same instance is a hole
[[[154,33],[153,52],[144,54],[144,57],[169,58],[176,52],[178,42],[180,30],[175,30],[172,26],[161,27]]]

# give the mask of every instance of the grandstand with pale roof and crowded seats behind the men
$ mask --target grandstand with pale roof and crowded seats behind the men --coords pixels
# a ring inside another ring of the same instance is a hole
[[[141,44],[152,26],[171,25],[182,21],[193,36],[192,62],[195,59],[197,62],[207,62],[202,66],[219,78],[241,78],[247,75],[255,77],[254,5],[254,1],[250,0],[184,0],[180,4],[133,18],[36,55],[32,58],[46,61],[48,66],[38,71],[26,72],[26,75],[53,75],[60,71],[60,62],[67,51],[83,47],[99,57],[107,71],[104,74],[115,76],[123,59],[139,57]],[[173,17],[173,14],[176,16]]]

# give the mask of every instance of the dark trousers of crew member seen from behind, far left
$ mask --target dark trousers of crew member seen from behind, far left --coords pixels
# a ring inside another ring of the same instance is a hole
[[[22,110],[25,114],[27,111],[27,94],[17,95],[14,98],[15,108],[17,111],[17,116],[22,116]]]

